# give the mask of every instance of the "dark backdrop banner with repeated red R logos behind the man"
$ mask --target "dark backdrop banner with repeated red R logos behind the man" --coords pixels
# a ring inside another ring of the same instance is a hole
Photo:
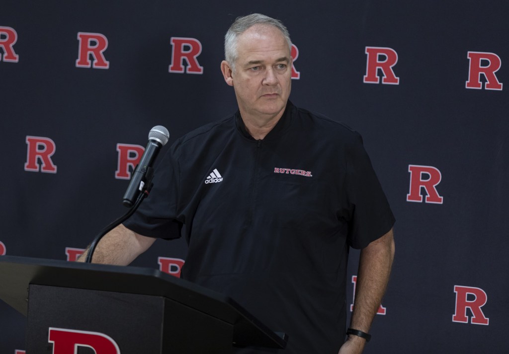
[[[126,211],[153,126],[169,130],[169,145],[234,112],[219,70],[223,36],[253,12],[288,26],[292,102],[362,134],[397,218],[389,289],[365,352],[506,352],[502,0],[4,0],[0,255],[73,261]],[[134,264],[179,276],[185,256],[184,240],[158,240]],[[0,304],[0,354],[24,352],[25,323]]]

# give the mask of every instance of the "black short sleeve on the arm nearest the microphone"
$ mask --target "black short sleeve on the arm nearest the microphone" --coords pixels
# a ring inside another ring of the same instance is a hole
[[[166,240],[181,235],[183,220],[178,216],[179,166],[177,142],[154,170],[153,187],[138,210],[123,224],[147,237]]]

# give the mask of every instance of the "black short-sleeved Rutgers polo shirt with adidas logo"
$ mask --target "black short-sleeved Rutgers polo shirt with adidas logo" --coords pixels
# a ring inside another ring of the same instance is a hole
[[[185,225],[182,278],[288,333],[285,353],[336,354],[348,249],[393,223],[360,135],[288,102],[263,140],[247,133],[239,112],[178,139],[125,226],[174,239]]]

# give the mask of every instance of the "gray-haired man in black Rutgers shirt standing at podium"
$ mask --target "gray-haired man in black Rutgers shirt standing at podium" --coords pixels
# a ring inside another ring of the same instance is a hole
[[[290,52],[279,21],[235,21],[221,71],[239,111],[175,142],[150,196],[94,261],[128,264],[185,225],[183,278],[288,333],[287,353],[360,353],[387,285],[394,218],[360,136],[288,100]],[[362,251],[345,342],[350,246]]]

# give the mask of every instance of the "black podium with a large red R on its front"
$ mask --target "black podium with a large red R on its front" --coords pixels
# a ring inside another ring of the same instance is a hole
[[[27,316],[27,354],[233,353],[287,343],[231,298],[149,268],[0,256],[0,299]]]

